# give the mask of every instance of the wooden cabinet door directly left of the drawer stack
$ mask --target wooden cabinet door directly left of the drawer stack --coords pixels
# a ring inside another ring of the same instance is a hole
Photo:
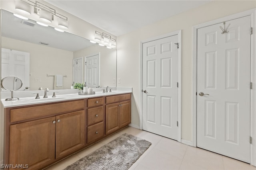
[[[85,145],[84,110],[56,116],[56,159]]]

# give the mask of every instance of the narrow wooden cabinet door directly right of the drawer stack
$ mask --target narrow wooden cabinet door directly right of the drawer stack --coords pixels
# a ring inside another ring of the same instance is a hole
[[[106,105],[106,134],[112,133],[120,127],[119,103]]]

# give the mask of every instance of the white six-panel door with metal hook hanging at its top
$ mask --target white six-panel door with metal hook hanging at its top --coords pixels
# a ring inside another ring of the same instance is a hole
[[[197,147],[250,162],[250,16],[198,29]]]

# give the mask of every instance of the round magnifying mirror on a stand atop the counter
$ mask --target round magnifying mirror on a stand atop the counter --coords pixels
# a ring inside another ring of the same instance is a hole
[[[13,97],[13,91],[19,90],[22,87],[22,81],[16,76],[8,76],[1,80],[1,87],[5,90],[12,92],[12,98],[6,100],[19,100],[19,98]]]

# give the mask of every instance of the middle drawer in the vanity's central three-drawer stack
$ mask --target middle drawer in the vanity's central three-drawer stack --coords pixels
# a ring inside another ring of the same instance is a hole
[[[103,106],[87,109],[87,125],[90,126],[103,121],[103,113]]]

